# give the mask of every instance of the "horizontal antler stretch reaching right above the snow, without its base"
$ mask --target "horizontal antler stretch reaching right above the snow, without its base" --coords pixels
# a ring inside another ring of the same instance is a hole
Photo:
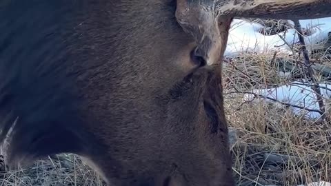
[[[331,16],[330,0],[219,0],[210,3],[210,6],[216,4],[219,15],[230,17],[316,19]]]

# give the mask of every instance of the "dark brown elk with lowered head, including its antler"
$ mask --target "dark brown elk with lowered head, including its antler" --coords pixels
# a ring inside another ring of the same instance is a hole
[[[1,1],[8,163],[74,153],[108,185],[233,186],[221,86],[232,18],[326,17],[330,5]]]

